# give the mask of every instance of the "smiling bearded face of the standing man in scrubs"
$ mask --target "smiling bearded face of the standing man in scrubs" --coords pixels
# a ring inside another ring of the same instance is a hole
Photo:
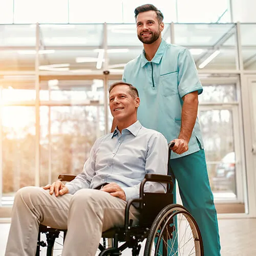
[[[161,38],[161,32],[164,25],[157,19],[155,11],[141,12],[137,16],[137,35],[143,44],[150,45],[158,38]]]

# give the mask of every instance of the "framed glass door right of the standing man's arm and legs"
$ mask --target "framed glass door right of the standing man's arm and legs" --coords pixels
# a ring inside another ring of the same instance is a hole
[[[237,77],[202,79],[199,120],[212,193],[219,214],[245,212],[245,164]]]

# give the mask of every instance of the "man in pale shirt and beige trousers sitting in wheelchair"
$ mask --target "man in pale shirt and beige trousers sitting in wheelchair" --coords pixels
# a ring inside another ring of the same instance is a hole
[[[62,256],[94,256],[101,232],[124,225],[126,201],[139,197],[145,174],[167,174],[167,141],[137,120],[137,89],[116,82],[109,93],[111,114],[118,125],[95,141],[82,173],[67,185],[57,180],[43,188],[17,191],[6,256],[34,256],[40,223],[68,229]],[[164,192],[165,187],[148,182],[145,190]],[[133,206],[130,217],[138,223]]]

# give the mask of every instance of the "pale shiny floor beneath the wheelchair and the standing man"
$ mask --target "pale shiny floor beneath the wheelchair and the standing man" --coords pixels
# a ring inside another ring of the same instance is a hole
[[[0,224],[0,256],[4,256],[9,226]],[[219,226],[222,256],[256,255],[256,219],[221,219]],[[130,256],[131,252],[126,251],[122,255]]]

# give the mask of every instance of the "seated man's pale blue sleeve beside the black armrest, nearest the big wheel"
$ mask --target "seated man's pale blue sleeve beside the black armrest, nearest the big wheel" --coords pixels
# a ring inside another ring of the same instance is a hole
[[[160,133],[154,134],[147,143],[145,174],[167,175],[168,143]],[[139,198],[140,183],[133,187],[123,188],[126,201]],[[165,193],[166,185],[158,182],[146,182],[145,192]]]

